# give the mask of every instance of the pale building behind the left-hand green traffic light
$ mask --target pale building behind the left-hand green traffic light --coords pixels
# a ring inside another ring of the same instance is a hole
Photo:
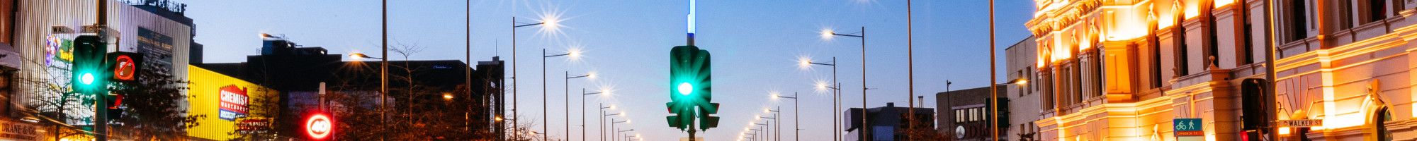
[[[94,27],[98,21],[98,3],[106,4],[106,27]],[[72,39],[78,35],[109,38],[108,52],[146,54],[145,65],[162,66],[174,79],[186,79],[191,62],[194,24],[183,16],[186,6],[170,1],[142,0],[0,0],[0,92],[3,92],[4,118],[21,118],[14,123],[28,130],[4,130],[0,138],[11,137],[10,131],[33,131],[44,125],[44,134],[17,134],[43,140],[85,140],[88,135],[60,135],[82,133],[92,121],[78,117],[92,117],[92,110],[75,110],[86,103],[62,102],[62,90],[51,86],[68,86],[65,79],[72,61]],[[200,56],[198,56],[200,58]],[[13,87],[11,87],[13,86]],[[71,109],[71,110],[62,110]],[[0,123],[4,124],[4,123]],[[7,124],[6,127],[9,127]],[[62,127],[55,130],[54,127]],[[57,137],[60,135],[60,137]]]

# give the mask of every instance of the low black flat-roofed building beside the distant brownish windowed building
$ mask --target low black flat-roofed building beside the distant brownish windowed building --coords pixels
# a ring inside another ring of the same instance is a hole
[[[905,141],[905,125],[910,124],[908,118],[914,118],[917,128],[935,128],[935,124],[930,120],[934,118],[934,109],[915,107],[915,113],[910,113],[910,107],[896,107],[896,103],[886,103],[886,107],[866,109],[866,116],[869,116],[870,123],[864,127],[870,127],[870,137],[862,134],[862,109],[847,109],[842,113],[846,123],[846,140],[847,141]]]

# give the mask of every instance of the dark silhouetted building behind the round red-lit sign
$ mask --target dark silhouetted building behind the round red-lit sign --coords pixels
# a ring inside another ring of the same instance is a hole
[[[479,62],[475,69],[462,61],[388,61],[388,102],[383,104],[385,102],[380,100],[378,61],[343,61],[346,55],[329,54],[320,47],[300,47],[281,37],[262,35],[262,54],[249,55],[245,62],[203,63],[198,66],[282,92],[276,100],[281,113],[276,116],[275,125],[282,135],[299,135],[302,127],[299,123],[293,123],[295,118],[313,111],[327,111],[327,109],[322,110],[320,106],[368,110],[387,106],[394,110],[391,113],[439,114],[438,117],[390,116],[390,118],[401,118],[400,121],[418,118],[428,121],[428,124],[439,124],[419,130],[434,131],[428,134],[429,140],[503,137],[503,133],[496,128],[504,124],[497,120],[504,111],[502,104],[504,76],[503,63],[496,56],[493,61]],[[468,75],[470,75],[470,80]],[[320,90],[351,97],[322,97]],[[324,100],[322,102],[322,99]],[[341,100],[357,100],[359,104],[340,106]],[[332,114],[336,118],[368,114],[377,117],[377,111],[332,111]],[[363,128],[370,128],[371,124],[381,123],[364,123]],[[363,130],[363,133],[373,131]],[[340,133],[336,133],[336,137],[340,137]]]

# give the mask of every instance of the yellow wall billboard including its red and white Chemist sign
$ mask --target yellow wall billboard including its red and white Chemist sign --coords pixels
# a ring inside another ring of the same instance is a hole
[[[187,65],[187,113],[205,116],[187,135],[227,141],[239,134],[265,131],[275,117],[279,92],[264,86]],[[238,134],[231,134],[238,133]]]

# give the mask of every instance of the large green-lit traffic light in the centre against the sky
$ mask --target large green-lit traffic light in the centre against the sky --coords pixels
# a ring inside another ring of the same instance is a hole
[[[679,130],[693,130],[694,118],[699,120],[697,130],[708,130],[718,125],[718,103],[713,102],[713,73],[710,72],[708,51],[699,47],[674,47],[669,51],[669,113],[665,117],[670,127]]]

